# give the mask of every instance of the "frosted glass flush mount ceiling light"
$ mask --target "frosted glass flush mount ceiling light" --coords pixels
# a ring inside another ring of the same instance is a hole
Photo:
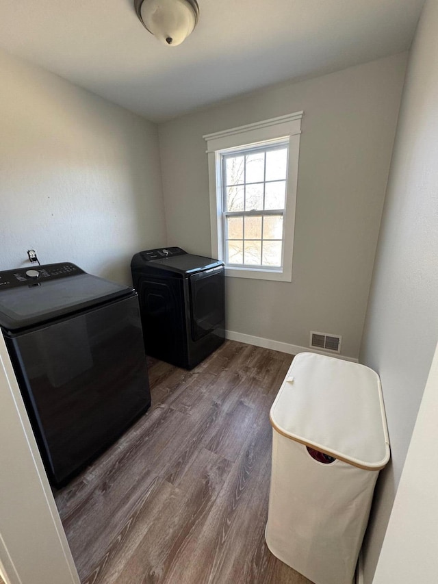
[[[181,45],[198,23],[196,0],[135,0],[144,27],[170,47]]]

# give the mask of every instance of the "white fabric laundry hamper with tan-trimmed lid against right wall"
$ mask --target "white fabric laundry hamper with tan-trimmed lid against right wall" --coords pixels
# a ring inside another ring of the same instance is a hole
[[[378,471],[389,460],[378,375],[300,353],[270,420],[268,548],[315,584],[352,584]]]

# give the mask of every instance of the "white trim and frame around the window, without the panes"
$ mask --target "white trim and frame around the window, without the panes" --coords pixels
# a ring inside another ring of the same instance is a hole
[[[222,155],[239,151],[240,149],[244,150],[288,142],[289,155],[283,218],[284,237],[281,268],[268,268],[266,266],[236,267],[226,265],[225,274],[227,276],[283,282],[292,281],[298,157],[300,153],[302,115],[303,112],[295,112],[294,114],[287,114],[279,118],[271,118],[262,122],[203,136],[207,141],[209,169],[211,253],[214,257],[218,257],[218,259],[222,259],[223,261],[225,261],[225,257]]]

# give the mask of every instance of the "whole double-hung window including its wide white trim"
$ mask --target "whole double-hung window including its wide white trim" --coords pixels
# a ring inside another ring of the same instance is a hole
[[[292,281],[302,112],[204,136],[212,253],[227,276]]]

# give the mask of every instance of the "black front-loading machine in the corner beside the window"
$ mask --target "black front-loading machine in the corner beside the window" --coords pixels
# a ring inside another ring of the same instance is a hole
[[[224,342],[224,262],[168,247],[136,253],[131,271],[148,355],[192,369]]]

